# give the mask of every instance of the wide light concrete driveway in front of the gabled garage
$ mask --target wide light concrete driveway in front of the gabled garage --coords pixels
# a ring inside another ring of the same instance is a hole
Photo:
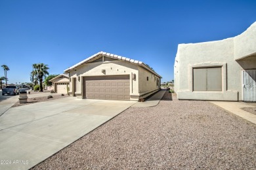
[[[29,169],[136,102],[62,98],[0,116],[0,169]]]

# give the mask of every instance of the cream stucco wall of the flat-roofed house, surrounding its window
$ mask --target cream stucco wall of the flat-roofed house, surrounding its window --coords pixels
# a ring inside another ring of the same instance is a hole
[[[175,92],[178,98],[242,100],[242,70],[255,68],[255,64],[251,63],[255,61],[255,53],[256,22],[244,33],[233,38],[205,43],[180,44],[174,65]],[[192,91],[192,69],[213,66],[222,67],[222,91]]]

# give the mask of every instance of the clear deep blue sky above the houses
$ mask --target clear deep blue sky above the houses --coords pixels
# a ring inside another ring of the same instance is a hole
[[[140,60],[171,81],[179,43],[239,35],[256,21],[255,9],[255,0],[0,0],[0,65],[9,66],[9,83],[30,82],[34,63],[62,74],[105,51]]]

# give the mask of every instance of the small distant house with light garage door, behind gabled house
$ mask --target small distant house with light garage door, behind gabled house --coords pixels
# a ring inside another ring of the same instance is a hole
[[[47,87],[47,89],[51,89],[55,93],[68,94],[67,88],[70,83],[68,74],[60,74],[49,81],[53,82],[53,86],[51,88]]]

